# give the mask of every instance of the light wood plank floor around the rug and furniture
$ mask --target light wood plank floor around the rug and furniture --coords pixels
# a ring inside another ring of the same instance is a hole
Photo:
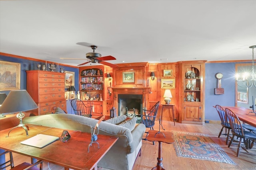
[[[155,130],[158,130],[158,123],[155,125]],[[172,144],[163,143],[163,167],[166,170],[220,170],[220,169],[256,169],[256,156],[250,156],[248,154],[240,153],[240,156],[236,157],[237,145],[231,145],[230,148],[226,145],[226,137],[221,135],[218,138],[220,132],[220,124],[205,125],[188,125],[181,123],[174,123],[171,121],[163,121],[163,126],[166,131],[186,131],[193,133],[208,134],[211,139],[217,143],[228,156],[236,163],[236,165],[218,163],[207,160],[197,160],[192,158],[182,158],[176,156],[175,149]],[[147,129],[148,130],[148,129]],[[250,151],[256,153],[256,146]],[[157,164],[158,156],[158,143],[152,145],[152,142],[142,141],[142,155],[139,156],[134,164],[133,170],[151,170]],[[20,164],[21,162],[30,162],[30,158],[14,153],[14,163]],[[79,161],[79,160],[78,160]],[[64,170],[63,167],[58,165],[49,164],[51,170]],[[48,170],[47,162],[44,162],[44,170]],[[98,168],[99,170],[106,170],[105,168]]]

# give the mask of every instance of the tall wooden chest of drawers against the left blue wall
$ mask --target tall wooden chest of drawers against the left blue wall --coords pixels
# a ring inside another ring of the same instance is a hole
[[[66,111],[65,73],[41,70],[29,70],[27,73],[27,91],[38,105],[31,111],[35,115],[54,112],[56,107]]]

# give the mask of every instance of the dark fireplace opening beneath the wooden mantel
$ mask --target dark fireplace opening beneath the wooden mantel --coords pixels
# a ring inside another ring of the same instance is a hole
[[[118,94],[118,115],[140,115],[142,113],[141,94]]]

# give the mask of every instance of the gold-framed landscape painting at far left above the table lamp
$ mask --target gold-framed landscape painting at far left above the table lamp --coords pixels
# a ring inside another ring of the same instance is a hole
[[[20,63],[0,61],[0,90],[20,90]]]

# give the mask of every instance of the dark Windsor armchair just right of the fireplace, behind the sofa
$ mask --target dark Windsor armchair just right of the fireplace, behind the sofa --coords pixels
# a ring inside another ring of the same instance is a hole
[[[142,115],[140,115],[142,119],[142,123],[146,127],[150,128],[150,130],[154,130],[154,125],[155,125],[159,104],[160,104],[160,101],[158,101],[150,110],[142,109]],[[148,135],[148,132],[145,132],[145,133],[147,133]],[[147,139],[144,138],[143,140],[146,141]],[[155,145],[154,142],[153,142],[153,145]]]

